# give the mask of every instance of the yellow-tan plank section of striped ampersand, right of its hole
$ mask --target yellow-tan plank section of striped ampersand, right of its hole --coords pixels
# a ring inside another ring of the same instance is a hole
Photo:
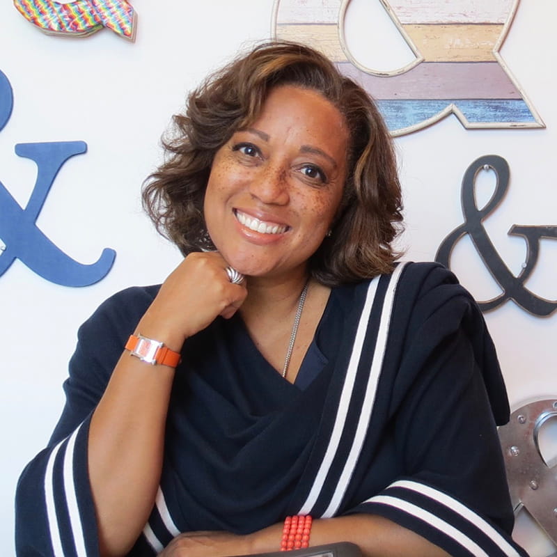
[[[504,26],[453,24],[404,25],[416,49],[428,62],[492,62]]]

